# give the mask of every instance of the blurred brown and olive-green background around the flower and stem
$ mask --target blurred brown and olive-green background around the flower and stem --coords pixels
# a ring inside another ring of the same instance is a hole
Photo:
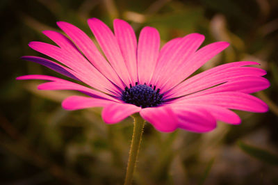
[[[40,91],[24,74],[61,77],[22,61],[35,55],[30,41],[51,42],[41,31],[57,21],[79,26],[97,17],[130,22],[138,35],[154,26],[162,43],[188,33],[206,35],[204,45],[231,46],[202,67],[257,61],[268,71],[270,88],[256,96],[268,113],[238,111],[239,126],[218,123],[207,134],[160,133],[146,124],[134,184],[278,184],[278,1],[275,0],[1,0],[0,184],[122,184],[133,124],[127,118],[106,125],[101,108],[65,111],[72,91]],[[94,38],[92,38],[94,39]]]

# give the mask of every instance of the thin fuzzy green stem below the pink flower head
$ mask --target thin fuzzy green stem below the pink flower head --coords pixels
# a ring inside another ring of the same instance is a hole
[[[131,140],[131,149],[129,151],[129,162],[127,163],[126,179],[124,180],[124,185],[129,185],[132,182],[133,172],[136,167],[137,156],[145,123],[145,120],[143,120],[138,113],[133,115],[133,119],[133,135]]]

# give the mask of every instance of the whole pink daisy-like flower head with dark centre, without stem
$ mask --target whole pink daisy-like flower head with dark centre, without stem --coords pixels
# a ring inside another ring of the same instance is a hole
[[[58,46],[44,42],[30,42],[29,46],[63,65],[36,56],[22,58],[92,88],[37,74],[17,79],[49,81],[40,84],[40,90],[78,90],[88,95],[67,97],[62,103],[67,110],[104,107],[102,118],[108,124],[140,113],[158,131],[165,132],[177,128],[211,131],[217,120],[239,124],[240,118],[229,109],[268,111],[261,99],[249,95],[270,86],[262,77],[265,70],[246,67],[258,63],[227,63],[190,77],[228,47],[227,42],[214,42],[198,49],[204,35],[192,33],[170,40],[160,49],[159,33],[152,27],[142,29],[137,43],[133,29],[123,20],[115,19],[113,33],[99,19],[88,19],[104,57],[76,26],[67,22],[57,24],[71,40],[56,31],[43,31]]]

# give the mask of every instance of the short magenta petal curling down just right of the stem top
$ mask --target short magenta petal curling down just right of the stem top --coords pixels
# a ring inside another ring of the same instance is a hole
[[[170,106],[142,108],[140,115],[158,131],[171,132],[177,129],[177,115]]]

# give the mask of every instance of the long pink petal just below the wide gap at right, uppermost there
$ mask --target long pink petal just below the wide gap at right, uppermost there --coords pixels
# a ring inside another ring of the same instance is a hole
[[[177,87],[165,93],[165,97],[180,97],[204,90],[212,86],[227,81],[233,81],[235,78],[241,77],[260,77],[266,74],[265,70],[256,67],[240,67],[243,65],[254,65],[254,62],[236,62],[219,65],[210,70],[199,73],[194,77],[186,79]]]

